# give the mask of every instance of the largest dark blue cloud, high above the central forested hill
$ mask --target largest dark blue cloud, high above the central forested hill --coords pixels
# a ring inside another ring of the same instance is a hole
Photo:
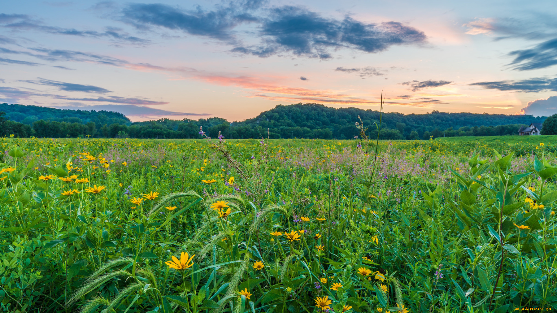
[[[261,19],[262,45],[237,47],[232,51],[261,57],[281,52],[297,56],[331,58],[330,50],[341,47],[380,52],[392,45],[422,43],[426,35],[398,22],[363,23],[351,17],[343,20],[321,17],[305,8],[284,6],[271,9]]]

